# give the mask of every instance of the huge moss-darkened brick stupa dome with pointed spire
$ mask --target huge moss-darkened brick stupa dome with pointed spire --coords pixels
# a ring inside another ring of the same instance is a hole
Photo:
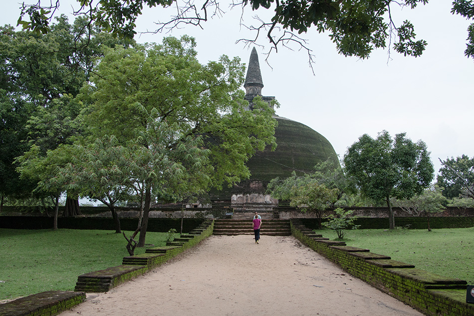
[[[255,48],[250,53],[243,87],[249,107],[257,95],[267,102],[275,99],[274,96],[261,94],[263,81]],[[289,177],[293,171],[298,175],[313,172],[316,164],[328,159],[333,159],[336,165],[339,165],[334,148],[324,136],[291,119],[278,115],[274,118],[278,122],[275,129],[276,149],[256,152],[247,162],[250,178],[232,188],[225,187],[222,191],[211,194],[211,199],[231,198],[235,210],[270,209],[278,204],[277,200],[265,194],[266,186],[271,179]]]

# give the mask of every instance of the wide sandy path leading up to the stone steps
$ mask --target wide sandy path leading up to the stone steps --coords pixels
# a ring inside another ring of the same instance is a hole
[[[422,316],[293,237],[212,236],[61,316]]]

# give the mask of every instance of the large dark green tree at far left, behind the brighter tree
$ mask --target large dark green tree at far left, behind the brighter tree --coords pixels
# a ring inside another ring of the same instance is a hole
[[[7,139],[5,136],[8,141],[13,135],[17,144],[9,155],[1,157],[2,164],[11,171],[7,176],[10,185],[2,185],[1,191],[12,187],[31,190],[31,186],[21,186],[25,180],[18,180],[18,174],[11,166],[12,155],[21,156],[34,144],[39,148],[34,152],[46,159],[48,150],[55,150],[61,144],[72,144],[84,131],[74,123],[82,108],[74,97],[88,80],[97,58],[102,56],[100,45],[132,42],[100,32],[84,17],[70,24],[64,15],[57,17],[45,35],[14,31],[11,26],[5,26],[0,29],[0,36],[1,93],[2,100],[8,100],[1,104],[2,121],[4,126],[15,126],[10,134],[5,132],[0,137],[9,135]],[[6,117],[3,113],[10,115]],[[14,142],[9,143],[14,145]],[[7,149],[6,146],[3,148]],[[78,201],[75,194],[69,196],[69,193],[65,214],[78,214]]]

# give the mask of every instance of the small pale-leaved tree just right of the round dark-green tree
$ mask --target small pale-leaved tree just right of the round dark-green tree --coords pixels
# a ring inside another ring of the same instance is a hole
[[[443,212],[444,204],[448,202],[437,185],[430,185],[422,194],[416,195],[410,199],[393,199],[393,205],[398,206],[405,212],[413,216],[425,215],[428,222],[428,231],[430,228],[430,216],[433,213]]]

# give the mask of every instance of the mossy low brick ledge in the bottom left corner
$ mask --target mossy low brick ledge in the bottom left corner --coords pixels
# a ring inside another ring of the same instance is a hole
[[[84,292],[46,291],[0,305],[0,316],[52,316],[84,302]]]

